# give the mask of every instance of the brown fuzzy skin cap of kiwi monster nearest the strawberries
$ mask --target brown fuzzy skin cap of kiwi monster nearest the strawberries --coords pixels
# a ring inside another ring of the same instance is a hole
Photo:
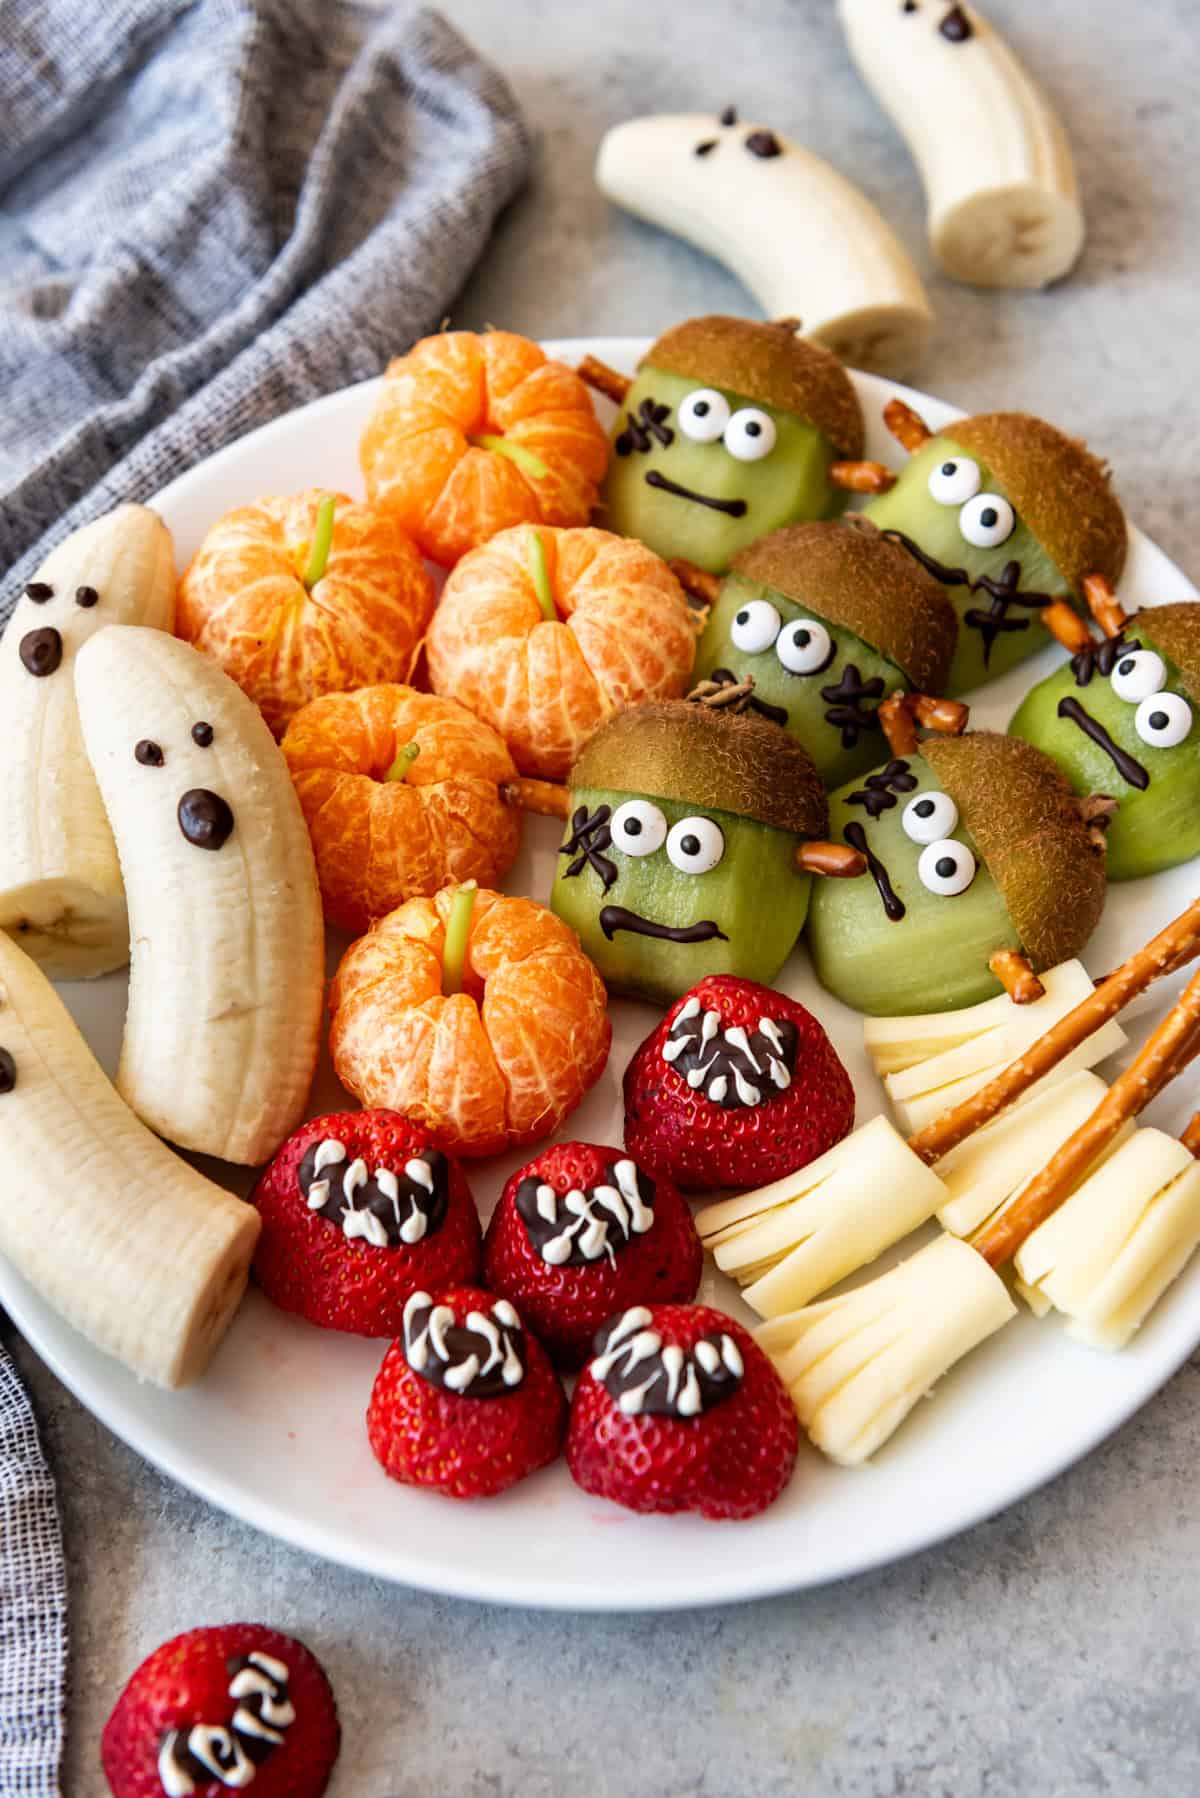
[[[829,832],[826,789],[795,737],[765,717],[734,717],[687,699],[617,712],[583,748],[569,786],[675,798],[801,838]]]

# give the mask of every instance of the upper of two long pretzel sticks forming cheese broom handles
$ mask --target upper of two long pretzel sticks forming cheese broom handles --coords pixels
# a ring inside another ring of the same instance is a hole
[[[909,1147],[930,1165],[941,1160],[943,1154],[950,1154],[981,1124],[986,1124],[997,1111],[1011,1106],[1034,1081],[1040,1081],[1043,1073],[1056,1068],[1072,1048],[1078,1048],[1103,1023],[1115,1018],[1159,975],[1180,967],[1198,953],[1200,899],[1193,899],[1186,912],[1180,912],[1137,955],[1132,955],[1128,962],[1114,969],[1099,987],[1092,987],[1088,996],[1072,1012],[1060,1018],[1024,1055],[1018,1055],[1007,1068],[1002,1068],[995,1081],[990,1081],[977,1093],[972,1093],[970,1099],[964,1099],[963,1104],[952,1111],[945,1111],[932,1124],[927,1124],[923,1131],[918,1131],[916,1136],[910,1136]]]

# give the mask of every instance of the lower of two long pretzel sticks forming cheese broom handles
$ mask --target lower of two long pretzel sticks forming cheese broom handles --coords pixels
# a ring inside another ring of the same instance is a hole
[[[1112,1082],[1090,1118],[1051,1156],[1020,1197],[975,1239],[973,1248],[990,1268],[1002,1268],[1013,1259],[1025,1237],[1058,1210],[1126,1118],[1135,1118],[1151,1099],[1157,1099],[1196,1046],[1200,1046],[1200,973],[1191,976],[1182,996],[1124,1073]]]

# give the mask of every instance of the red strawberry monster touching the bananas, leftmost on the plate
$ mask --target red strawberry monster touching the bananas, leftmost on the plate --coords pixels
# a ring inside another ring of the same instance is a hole
[[[396,1336],[410,1293],[479,1277],[482,1232],[466,1174],[398,1111],[302,1124],[250,1203],[263,1219],[259,1286],[327,1331]]]

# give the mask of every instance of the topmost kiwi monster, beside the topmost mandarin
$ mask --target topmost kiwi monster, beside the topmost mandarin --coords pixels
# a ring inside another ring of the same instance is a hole
[[[621,406],[603,518],[622,536],[720,574],[768,530],[842,511],[831,469],[862,457],[862,410],[795,318],[689,318],[631,385],[594,361],[583,372]]]

